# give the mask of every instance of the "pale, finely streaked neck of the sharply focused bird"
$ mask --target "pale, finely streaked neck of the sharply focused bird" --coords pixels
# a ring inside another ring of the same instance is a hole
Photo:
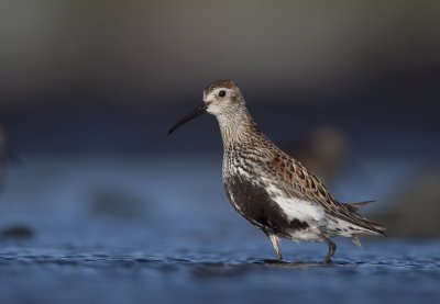
[[[224,147],[248,143],[260,133],[256,123],[244,106],[217,115],[217,120]]]

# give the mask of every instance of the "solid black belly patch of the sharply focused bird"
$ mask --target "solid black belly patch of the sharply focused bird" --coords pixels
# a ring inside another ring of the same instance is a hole
[[[263,185],[252,183],[245,178],[230,177],[224,182],[224,189],[237,211],[267,233],[283,236],[309,226],[297,218],[289,221]]]

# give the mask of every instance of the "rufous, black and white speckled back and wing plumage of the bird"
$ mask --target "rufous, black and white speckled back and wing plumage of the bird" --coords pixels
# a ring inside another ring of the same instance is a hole
[[[299,161],[277,148],[257,131],[256,125],[250,127],[244,137],[246,140],[241,142],[240,145],[227,144],[224,146],[224,182],[228,177],[241,176],[251,179],[253,183],[266,188],[268,191],[275,190],[270,192],[272,195],[290,199],[292,203],[295,203],[295,200],[309,202],[311,205],[321,207],[330,218],[336,217],[363,228],[354,230],[353,227],[353,230],[349,233],[350,236],[360,232],[382,234],[381,225],[362,217],[356,212],[356,207],[339,203],[318,178]],[[333,230],[329,232],[328,236],[337,234],[338,232]]]

